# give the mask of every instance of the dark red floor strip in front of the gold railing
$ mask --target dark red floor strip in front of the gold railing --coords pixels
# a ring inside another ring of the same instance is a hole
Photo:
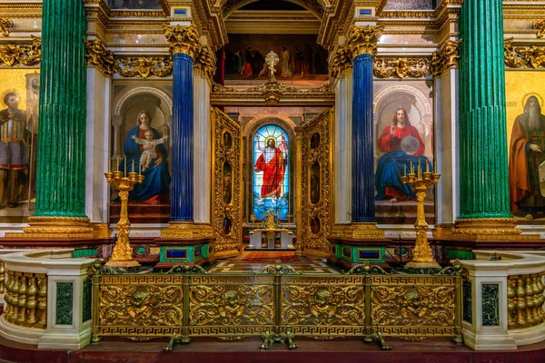
[[[193,338],[189,344],[176,345],[164,351],[168,339],[134,342],[126,339],[106,340],[81,350],[38,350],[32,346],[0,338],[0,362],[55,363],[171,363],[198,361],[199,363],[542,363],[545,342],[516,351],[474,351],[455,345],[449,338],[430,338],[407,341],[386,338],[391,350],[382,350],[376,343],[364,343],[360,338],[314,340],[297,338],[298,348],[272,345],[260,350],[260,338],[223,341],[213,338]]]

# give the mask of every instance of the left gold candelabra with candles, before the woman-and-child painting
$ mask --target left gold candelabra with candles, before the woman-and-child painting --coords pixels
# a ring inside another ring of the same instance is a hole
[[[106,265],[111,267],[140,266],[137,261],[133,260],[133,250],[129,243],[129,228],[131,227],[131,222],[128,217],[127,202],[129,201],[129,191],[133,190],[134,184],[144,182],[144,175],[140,173],[141,170],[142,169],[139,169],[139,173],[134,172],[133,161],[133,172],[127,173],[125,159],[124,172],[120,172],[119,170],[104,172],[106,182],[119,191],[119,198],[121,199],[121,212],[119,221],[117,222],[117,243],[115,243],[112,257],[106,263]]]

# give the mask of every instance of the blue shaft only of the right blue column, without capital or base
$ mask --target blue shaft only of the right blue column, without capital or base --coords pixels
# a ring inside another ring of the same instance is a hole
[[[372,54],[352,67],[352,222],[374,222]]]

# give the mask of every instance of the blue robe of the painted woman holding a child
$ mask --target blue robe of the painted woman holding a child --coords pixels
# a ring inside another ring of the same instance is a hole
[[[138,135],[138,130],[138,126],[131,129],[125,139],[124,153],[127,156],[127,172],[133,172],[133,162],[134,172],[139,172],[140,169],[139,162],[142,151],[140,150],[140,145],[131,138],[133,135],[140,137],[141,139],[144,138],[143,135]],[[157,130],[153,127],[150,127],[150,130],[154,132],[154,139],[160,138]],[[129,201],[146,201],[155,195],[158,195],[163,191],[169,191],[170,189],[170,172],[168,172],[168,165],[166,162],[168,152],[163,143],[160,143],[155,147],[157,151],[163,153],[163,162],[159,166],[153,166],[157,159],[152,160],[150,167],[142,172],[145,176],[144,182],[142,184],[134,184],[133,191],[129,192]],[[119,170],[124,171],[124,162],[121,162]]]

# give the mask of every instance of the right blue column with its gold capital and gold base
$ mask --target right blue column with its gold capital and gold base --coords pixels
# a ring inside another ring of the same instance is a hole
[[[384,238],[374,215],[372,128],[372,65],[383,28],[352,25],[346,39],[352,56],[352,238],[356,239]]]

